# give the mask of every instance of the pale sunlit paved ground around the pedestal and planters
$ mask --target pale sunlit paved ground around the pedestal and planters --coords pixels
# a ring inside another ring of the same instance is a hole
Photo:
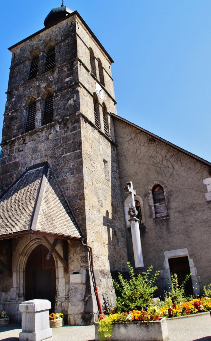
[[[167,320],[170,341],[211,341],[210,314],[193,315],[188,318]],[[0,327],[0,340],[18,341],[19,324]],[[53,338],[46,341],[93,341],[94,326],[68,327],[53,329]]]

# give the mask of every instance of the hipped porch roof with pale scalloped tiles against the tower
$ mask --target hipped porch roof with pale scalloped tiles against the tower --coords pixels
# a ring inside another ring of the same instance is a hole
[[[26,234],[83,239],[47,163],[27,169],[0,197],[0,239]]]

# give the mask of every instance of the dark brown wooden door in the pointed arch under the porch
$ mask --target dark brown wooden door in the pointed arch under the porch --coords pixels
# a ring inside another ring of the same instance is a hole
[[[30,253],[26,264],[26,300],[48,299],[54,312],[56,273],[53,256],[46,259],[49,250],[42,244]]]

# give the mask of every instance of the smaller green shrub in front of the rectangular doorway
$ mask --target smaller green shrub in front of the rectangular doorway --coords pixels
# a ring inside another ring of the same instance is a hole
[[[171,273],[171,281],[172,283],[168,282],[169,285],[169,292],[165,294],[165,300],[171,299],[173,303],[179,303],[184,301],[184,287],[186,282],[191,277],[191,273],[185,276],[185,280],[182,282],[181,285],[178,283],[178,278],[176,273]]]

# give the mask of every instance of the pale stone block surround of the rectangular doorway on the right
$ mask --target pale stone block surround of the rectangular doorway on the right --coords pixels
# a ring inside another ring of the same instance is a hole
[[[164,269],[160,271],[160,276],[162,279],[166,280],[166,282],[171,283],[171,273],[169,269],[168,260],[170,258],[179,258],[179,257],[188,257],[190,272],[191,272],[191,280],[193,285],[193,294],[200,296],[200,285],[201,282],[200,276],[198,276],[197,269],[194,267],[193,259],[189,257],[188,249],[178,249],[171,251],[164,251]]]

